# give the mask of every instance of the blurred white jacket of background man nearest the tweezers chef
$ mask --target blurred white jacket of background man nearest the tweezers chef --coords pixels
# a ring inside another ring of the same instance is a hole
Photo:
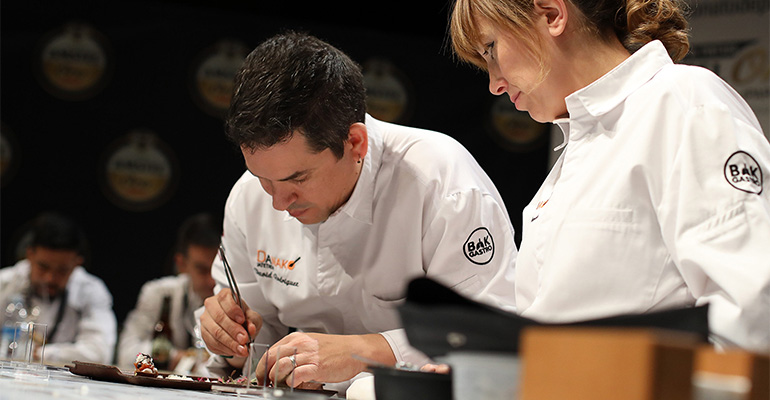
[[[171,298],[169,324],[171,343],[176,350],[187,350],[195,344],[195,317],[193,313],[203,305],[203,299],[190,287],[187,274],[164,276],[151,280],[139,292],[136,307],[123,323],[118,345],[117,363],[133,368],[137,353],[150,354],[155,324],[160,320],[163,298]]]

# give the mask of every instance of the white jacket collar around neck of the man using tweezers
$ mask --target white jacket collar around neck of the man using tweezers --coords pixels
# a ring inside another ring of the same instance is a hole
[[[382,162],[382,123],[366,114],[366,133],[369,136],[368,150],[363,159],[358,182],[348,201],[335,211],[329,219],[340,213],[366,224],[372,224],[372,202],[374,202],[375,172]]]

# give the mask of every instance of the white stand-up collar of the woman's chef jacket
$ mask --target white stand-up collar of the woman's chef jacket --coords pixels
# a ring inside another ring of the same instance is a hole
[[[669,64],[673,61],[663,43],[659,40],[647,43],[601,78],[567,96],[570,119],[608,113]]]

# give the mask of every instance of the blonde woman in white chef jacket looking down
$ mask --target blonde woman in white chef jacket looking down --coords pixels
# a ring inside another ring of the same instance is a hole
[[[605,7],[605,8],[601,8]],[[566,322],[709,303],[720,346],[770,344],[770,146],[688,51],[677,0],[458,0],[456,54],[564,133],[524,210],[522,315]]]

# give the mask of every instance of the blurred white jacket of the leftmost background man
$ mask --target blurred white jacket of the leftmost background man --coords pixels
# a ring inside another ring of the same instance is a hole
[[[76,267],[67,281],[62,309],[62,296],[51,301],[28,296],[29,268],[29,261],[24,259],[0,270],[0,304],[6,305],[14,296],[21,295],[31,302],[25,304],[28,310],[39,307],[40,315],[34,322],[48,325],[45,361],[111,363],[117,321],[112,311],[112,295],[104,282],[83,267]],[[4,318],[0,314],[0,319]]]

